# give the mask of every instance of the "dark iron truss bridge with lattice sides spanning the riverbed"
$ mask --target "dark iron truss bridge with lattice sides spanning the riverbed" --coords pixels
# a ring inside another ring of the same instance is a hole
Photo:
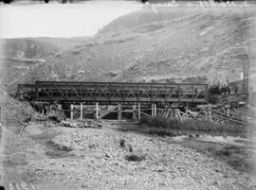
[[[207,84],[36,81],[19,84],[17,95],[37,101],[208,102]]]

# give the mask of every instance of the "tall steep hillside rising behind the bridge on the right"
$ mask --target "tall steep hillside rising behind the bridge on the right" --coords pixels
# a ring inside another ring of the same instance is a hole
[[[59,79],[79,80],[193,78],[194,82],[227,82],[239,78],[248,62],[252,14],[212,9],[183,14],[161,11],[141,10],[119,18],[102,29],[94,41],[52,60],[55,73]],[[142,12],[151,17],[144,17]],[[149,23],[149,17],[157,18]],[[143,18],[147,18],[146,24]],[[79,72],[82,75],[77,75]]]

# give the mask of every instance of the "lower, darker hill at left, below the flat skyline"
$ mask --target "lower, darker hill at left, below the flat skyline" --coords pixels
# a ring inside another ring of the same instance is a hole
[[[58,56],[86,40],[85,37],[77,39],[2,39],[0,46],[4,47],[4,51],[0,56],[1,62],[3,62],[0,69],[1,88],[7,87],[9,92],[13,92],[17,83],[33,82],[37,79],[33,78],[34,70],[40,68],[41,72],[45,69],[47,71],[49,60],[52,57]]]

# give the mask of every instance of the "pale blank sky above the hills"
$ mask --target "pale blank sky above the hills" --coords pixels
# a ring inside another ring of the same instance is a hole
[[[79,4],[2,4],[0,38],[93,36],[119,16],[142,7],[141,3],[121,0]]]

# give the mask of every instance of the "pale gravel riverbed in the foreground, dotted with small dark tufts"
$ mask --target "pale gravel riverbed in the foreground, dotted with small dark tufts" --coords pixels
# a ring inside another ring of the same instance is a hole
[[[25,181],[48,190],[256,189],[252,176],[228,164],[157,137],[115,130],[109,122],[102,129],[38,128],[41,134],[21,137],[4,131],[5,186]],[[145,159],[127,161],[131,154]]]

